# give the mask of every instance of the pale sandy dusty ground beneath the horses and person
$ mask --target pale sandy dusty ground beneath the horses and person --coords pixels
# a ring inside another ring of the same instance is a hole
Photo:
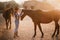
[[[33,39],[34,25],[32,20],[27,16],[23,21],[20,21],[19,25],[19,37],[13,38],[14,35],[14,18],[12,17],[12,29],[5,30],[5,21],[0,15],[0,40],[60,40],[60,34],[58,37],[51,38],[54,32],[54,21],[48,24],[41,24],[42,30],[44,32],[44,38],[41,38],[41,32],[37,26],[37,35]]]

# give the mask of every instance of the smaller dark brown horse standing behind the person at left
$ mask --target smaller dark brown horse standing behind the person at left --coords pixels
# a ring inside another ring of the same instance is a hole
[[[3,17],[6,22],[6,29],[11,29],[11,14],[13,14],[13,8],[9,8],[3,12]],[[10,27],[8,27],[10,24]]]

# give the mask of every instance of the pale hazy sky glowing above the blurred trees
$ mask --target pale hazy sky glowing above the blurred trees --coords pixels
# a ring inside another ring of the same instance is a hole
[[[0,0],[1,2],[4,1],[11,1],[11,0]],[[46,2],[51,4],[55,9],[59,9],[60,10],[60,0],[14,0],[16,1],[18,4],[22,4],[24,3],[24,1],[40,1],[40,2]]]

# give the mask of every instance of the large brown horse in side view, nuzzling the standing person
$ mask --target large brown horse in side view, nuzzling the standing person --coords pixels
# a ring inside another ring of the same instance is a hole
[[[52,21],[55,22],[55,30],[54,30],[54,33],[52,35],[52,38],[54,37],[56,32],[57,32],[56,36],[59,35],[58,21],[59,21],[59,18],[60,18],[60,14],[57,14],[57,13],[59,13],[58,11],[53,10],[53,11],[43,12],[42,10],[22,9],[21,13],[23,13],[23,15],[21,16],[21,20],[23,20],[24,17],[26,15],[28,15],[32,19],[32,21],[34,23],[34,35],[33,35],[33,38],[36,36],[37,25],[38,25],[39,30],[42,33],[41,38],[43,38],[44,33],[42,31],[42,28],[41,28],[41,23],[47,24],[47,23],[50,23]]]

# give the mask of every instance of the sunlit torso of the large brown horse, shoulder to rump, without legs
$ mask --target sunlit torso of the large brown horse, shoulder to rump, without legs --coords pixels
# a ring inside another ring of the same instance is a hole
[[[49,12],[42,12],[42,11],[36,11],[34,13],[34,19],[35,22],[40,23],[50,23],[52,21],[58,21],[60,18],[60,12],[57,11],[49,11]]]

